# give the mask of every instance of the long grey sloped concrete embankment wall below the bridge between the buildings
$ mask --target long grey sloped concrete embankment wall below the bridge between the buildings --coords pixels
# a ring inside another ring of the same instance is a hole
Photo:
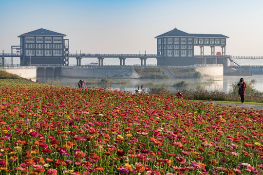
[[[140,78],[136,70],[127,69],[81,69],[61,68],[61,76],[74,78]]]

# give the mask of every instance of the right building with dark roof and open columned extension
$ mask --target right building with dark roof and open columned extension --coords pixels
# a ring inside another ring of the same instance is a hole
[[[157,65],[193,65],[193,64],[227,64],[227,59],[202,58],[194,56],[194,47],[200,47],[200,55],[204,55],[204,48],[211,48],[211,55],[215,55],[215,47],[222,48],[222,55],[225,55],[226,38],[220,34],[188,34],[176,28],[158,35],[157,38],[157,55],[163,57],[157,58]]]

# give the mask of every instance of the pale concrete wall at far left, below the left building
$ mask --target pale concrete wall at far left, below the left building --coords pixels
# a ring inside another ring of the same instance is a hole
[[[19,75],[23,78],[37,78],[37,68],[1,68],[0,70]]]

